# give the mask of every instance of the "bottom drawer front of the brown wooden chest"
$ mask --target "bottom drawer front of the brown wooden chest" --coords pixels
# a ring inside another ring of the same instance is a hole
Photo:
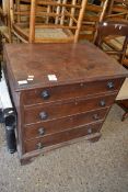
[[[24,143],[25,153],[43,149],[44,147],[53,146],[59,143],[68,142],[85,135],[97,133],[100,132],[101,126],[102,126],[102,123],[90,124],[90,125],[84,125],[70,131],[56,133],[49,136],[44,136],[43,138],[27,140]]]

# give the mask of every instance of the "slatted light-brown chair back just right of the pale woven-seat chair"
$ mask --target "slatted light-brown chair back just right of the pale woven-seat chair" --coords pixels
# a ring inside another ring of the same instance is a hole
[[[85,38],[94,42],[97,24],[104,19],[107,4],[108,0],[92,1],[92,3],[90,1],[88,2],[80,32],[81,39]]]

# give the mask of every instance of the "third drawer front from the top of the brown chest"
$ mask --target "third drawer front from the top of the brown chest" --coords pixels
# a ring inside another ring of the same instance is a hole
[[[104,120],[109,108],[25,126],[24,138],[32,139]]]

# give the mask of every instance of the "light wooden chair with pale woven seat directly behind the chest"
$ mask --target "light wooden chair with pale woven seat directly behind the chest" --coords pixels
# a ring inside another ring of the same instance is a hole
[[[28,3],[28,10],[22,10],[22,2]],[[12,32],[24,43],[77,43],[86,2],[88,0],[15,0],[14,4],[10,0]]]

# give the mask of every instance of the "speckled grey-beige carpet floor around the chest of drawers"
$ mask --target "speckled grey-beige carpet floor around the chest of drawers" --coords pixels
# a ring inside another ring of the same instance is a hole
[[[81,142],[20,166],[0,127],[0,192],[128,192],[128,120],[114,105],[94,144]]]

